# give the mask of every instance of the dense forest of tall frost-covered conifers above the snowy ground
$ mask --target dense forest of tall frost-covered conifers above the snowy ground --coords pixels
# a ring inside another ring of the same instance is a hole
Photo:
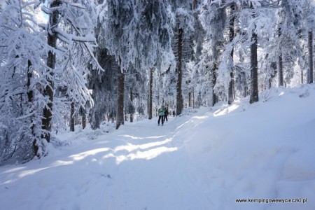
[[[314,81],[313,0],[0,1],[0,163],[58,131]],[[38,18],[42,17],[42,18]],[[39,21],[41,19],[41,21]]]

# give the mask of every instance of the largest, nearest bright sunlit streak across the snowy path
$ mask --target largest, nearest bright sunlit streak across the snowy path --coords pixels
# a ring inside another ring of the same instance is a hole
[[[119,165],[121,162],[125,160],[135,160],[135,159],[144,159],[144,160],[151,160],[153,158],[158,157],[159,155],[162,155],[162,153],[171,153],[177,151],[176,147],[166,147],[161,146],[158,148],[153,148],[148,151],[137,151],[137,153],[131,153],[129,155],[119,155],[116,158],[116,163]]]

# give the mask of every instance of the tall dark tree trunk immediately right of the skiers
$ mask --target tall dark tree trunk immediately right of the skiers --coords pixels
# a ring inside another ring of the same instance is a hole
[[[179,28],[179,41],[177,43],[177,53],[179,61],[177,62],[177,85],[176,85],[176,116],[181,114],[183,110],[183,97],[181,95],[182,73],[182,57],[183,57],[183,29]]]

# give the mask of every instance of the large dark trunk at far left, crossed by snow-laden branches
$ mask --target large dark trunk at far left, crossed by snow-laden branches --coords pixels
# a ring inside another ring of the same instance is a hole
[[[55,0],[50,3],[50,8],[57,8],[62,4],[62,1]],[[52,13],[50,13],[49,16],[49,26],[51,27],[47,34],[47,41],[48,45],[52,48],[56,48],[57,46],[57,34],[54,32],[54,27],[57,26],[59,22],[59,11],[57,9],[52,10]],[[48,57],[47,57],[47,66],[50,68],[48,71],[50,71],[50,77],[47,78],[48,85],[44,87],[43,94],[45,96],[48,96],[49,102],[47,106],[43,108],[43,120],[42,120],[42,127],[43,130],[46,130],[47,133],[43,138],[46,139],[47,142],[50,142],[50,131],[51,131],[51,120],[52,120],[52,102],[54,99],[54,82],[52,80],[54,73],[53,69],[55,69],[55,63],[56,63],[56,55],[51,50],[48,51]]]

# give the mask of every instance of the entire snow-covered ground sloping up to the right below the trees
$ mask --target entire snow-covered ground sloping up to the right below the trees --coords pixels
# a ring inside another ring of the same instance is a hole
[[[0,209],[315,208],[315,85],[157,120],[58,134],[0,167]]]

